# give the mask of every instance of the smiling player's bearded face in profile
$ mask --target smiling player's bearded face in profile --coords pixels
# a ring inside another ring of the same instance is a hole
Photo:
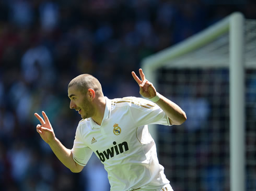
[[[94,107],[88,99],[88,92],[82,93],[75,85],[68,88],[68,97],[71,99],[69,107],[75,109],[83,119],[90,118],[94,115]]]

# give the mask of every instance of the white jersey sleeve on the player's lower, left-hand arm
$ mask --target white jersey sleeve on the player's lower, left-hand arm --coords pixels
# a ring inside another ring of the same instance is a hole
[[[82,166],[85,166],[89,161],[92,150],[85,145],[81,125],[78,125],[73,148],[71,149],[74,161]]]

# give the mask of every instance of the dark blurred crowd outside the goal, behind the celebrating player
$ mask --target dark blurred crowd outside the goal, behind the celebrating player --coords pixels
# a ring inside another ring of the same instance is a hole
[[[217,2],[0,1],[0,190],[109,190],[95,156],[79,174],[56,159],[33,113],[44,110],[72,148],[80,116],[69,109],[69,81],[90,73],[109,98],[139,96],[131,71],[144,57],[234,11],[256,19],[254,1]]]

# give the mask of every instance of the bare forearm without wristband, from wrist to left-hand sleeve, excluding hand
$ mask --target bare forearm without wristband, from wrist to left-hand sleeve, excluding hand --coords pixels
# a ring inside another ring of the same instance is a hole
[[[59,139],[55,138],[52,142],[48,143],[56,155],[56,157],[68,168],[71,172],[77,173],[83,170],[83,166],[77,164],[71,152],[71,149],[67,149]]]

